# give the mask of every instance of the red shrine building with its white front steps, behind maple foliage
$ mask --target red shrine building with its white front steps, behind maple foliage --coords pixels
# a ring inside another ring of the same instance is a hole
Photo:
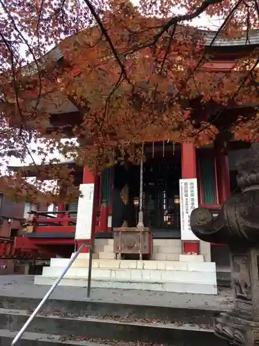
[[[204,66],[207,70],[231,70],[248,49],[245,37],[218,38],[213,46],[213,33],[207,38],[213,50],[213,62]],[[251,33],[249,42],[259,45],[258,31]],[[50,53],[52,59],[61,60],[58,48]],[[249,105],[238,111],[227,108],[215,125],[226,127],[226,121],[242,111],[254,109]],[[79,109],[71,100],[58,107],[50,104],[48,113],[50,131],[69,129],[79,121]],[[60,204],[56,212],[35,211],[30,231],[16,237],[17,248],[52,256],[35,284],[55,282],[84,243],[94,251],[92,286],[217,294],[217,271],[222,276],[230,271],[227,249],[195,238],[189,216],[198,206],[217,215],[238,189],[236,160],[248,147],[248,143],[220,137],[199,148],[191,143],[148,142],[142,165],[122,160],[102,174],[67,163],[74,167],[75,184],[83,197]],[[88,257],[85,247],[61,284],[86,286]]]

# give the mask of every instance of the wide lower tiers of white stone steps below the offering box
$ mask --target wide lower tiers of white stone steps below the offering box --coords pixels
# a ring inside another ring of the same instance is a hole
[[[85,254],[84,254],[85,255]],[[93,259],[92,286],[112,289],[143,289],[178,293],[217,294],[215,263]],[[52,258],[35,284],[52,284],[69,259]],[[60,285],[86,286],[88,260],[79,257]]]

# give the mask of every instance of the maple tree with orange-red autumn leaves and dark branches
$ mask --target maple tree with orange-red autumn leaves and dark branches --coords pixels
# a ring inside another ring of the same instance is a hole
[[[0,9],[3,159],[29,155],[33,161],[41,154],[44,164],[56,150],[97,170],[122,152],[138,162],[143,142],[206,145],[229,106],[258,102],[258,49],[249,42],[259,27],[258,0],[140,0],[136,6],[126,0],[0,0]],[[247,37],[250,48],[229,71],[209,69],[208,32],[191,22],[200,15],[222,19],[209,46],[220,38]],[[50,109],[68,103],[77,109],[69,131],[49,131]],[[207,116],[199,119],[195,110]],[[259,120],[253,109],[228,125],[236,138],[250,133],[255,140]],[[69,136],[81,146],[61,142]],[[28,145],[39,138],[32,152]],[[35,170],[37,188],[44,179],[73,185],[73,172],[57,158],[48,169]],[[28,195],[24,175],[23,169],[15,176],[21,196]]]

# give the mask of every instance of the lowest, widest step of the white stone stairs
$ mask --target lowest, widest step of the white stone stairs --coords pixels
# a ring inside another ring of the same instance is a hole
[[[186,272],[184,272],[186,273]],[[85,276],[87,277],[87,275]],[[57,277],[35,276],[35,284],[52,285]],[[87,278],[84,277],[64,277],[59,282],[59,286],[77,286],[86,287]],[[102,289],[136,289],[144,291],[162,291],[178,293],[197,293],[197,294],[217,294],[217,284],[209,282],[184,282],[178,281],[161,281],[161,280],[130,280],[116,279],[112,277],[92,277],[91,286]]]

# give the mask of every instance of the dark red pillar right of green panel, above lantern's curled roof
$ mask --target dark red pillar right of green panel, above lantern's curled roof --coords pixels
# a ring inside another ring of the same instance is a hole
[[[227,147],[224,142],[216,140],[214,147],[218,183],[218,201],[222,205],[231,195],[229,158],[227,156]]]

